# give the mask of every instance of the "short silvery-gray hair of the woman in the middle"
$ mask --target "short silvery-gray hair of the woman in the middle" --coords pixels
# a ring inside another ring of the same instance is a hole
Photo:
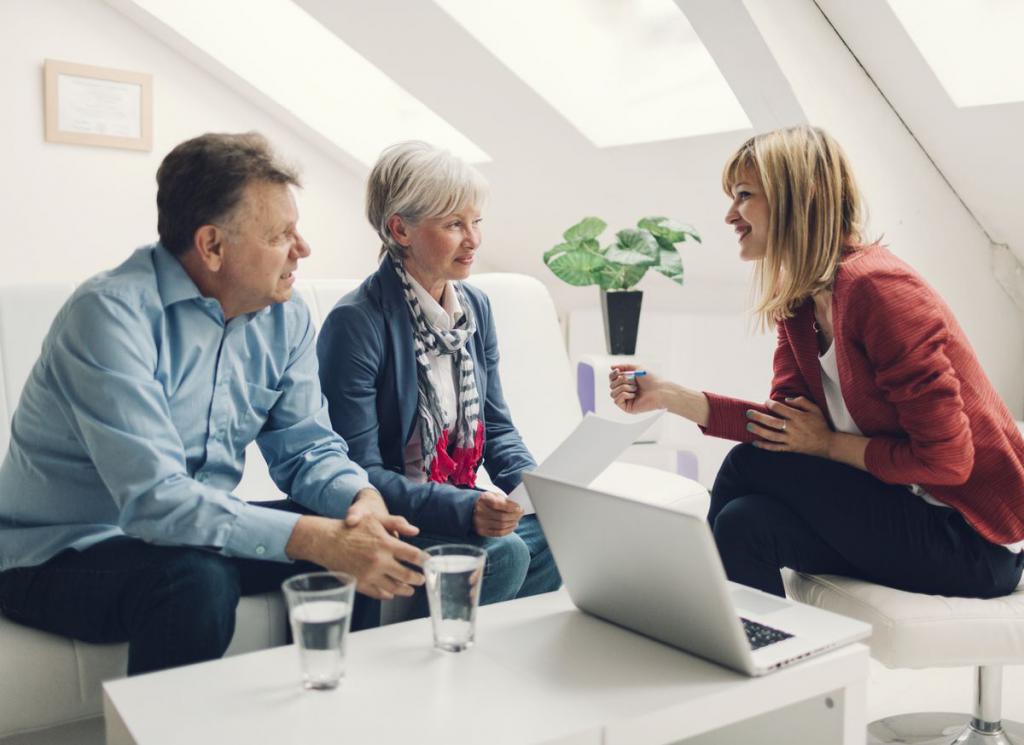
[[[392,215],[416,225],[464,207],[480,208],[486,196],[487,182],[480,172],[447,150],[418,140],[391,145],[381,152],[367,181],[367,219],[380,235],[379,256],[406,258],[406,249],[387,226]]]

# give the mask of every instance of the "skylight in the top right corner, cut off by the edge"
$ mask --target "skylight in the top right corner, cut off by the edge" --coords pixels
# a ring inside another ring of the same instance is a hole
[[[889,0],[957,106],[1024,100],[1024,2]]]

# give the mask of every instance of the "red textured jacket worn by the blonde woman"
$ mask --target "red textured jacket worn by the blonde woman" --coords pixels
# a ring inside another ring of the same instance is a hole
[[[779,323],[771,398],[806,396],[827,417],[814,304]],[[952,312],[881,246],[845,259],[833,288],[840,386],[870,438],[867,471],[921,484],[993,543],[1024,540],[1024,438]],[[749,442],[745,411],[763,405],[707,393],[706,433]]]

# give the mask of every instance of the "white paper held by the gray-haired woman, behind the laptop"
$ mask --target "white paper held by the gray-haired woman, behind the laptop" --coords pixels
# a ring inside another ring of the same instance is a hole
[[[612,422],[588,413],[562,444],[537,467],[535,473],[586,486],[649,430],[663,413],[664,409],[652,411],[629,422]],[[520,505],[526,515],[536,512],[523,484],[515,487],[508,498]]]

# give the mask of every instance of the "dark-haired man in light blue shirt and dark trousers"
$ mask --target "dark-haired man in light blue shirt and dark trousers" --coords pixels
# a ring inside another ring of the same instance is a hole
[[[296,172],[258,134],[206,134],[157,183],[160,243],[61,308],[0,468],[0,611],[127,641],[129,674],[220,657],[239,597],[313,564],[374,598],[422,583],[417,529],[331,428],[292,297]],[[254,439],[289,500],[230,493]]]

